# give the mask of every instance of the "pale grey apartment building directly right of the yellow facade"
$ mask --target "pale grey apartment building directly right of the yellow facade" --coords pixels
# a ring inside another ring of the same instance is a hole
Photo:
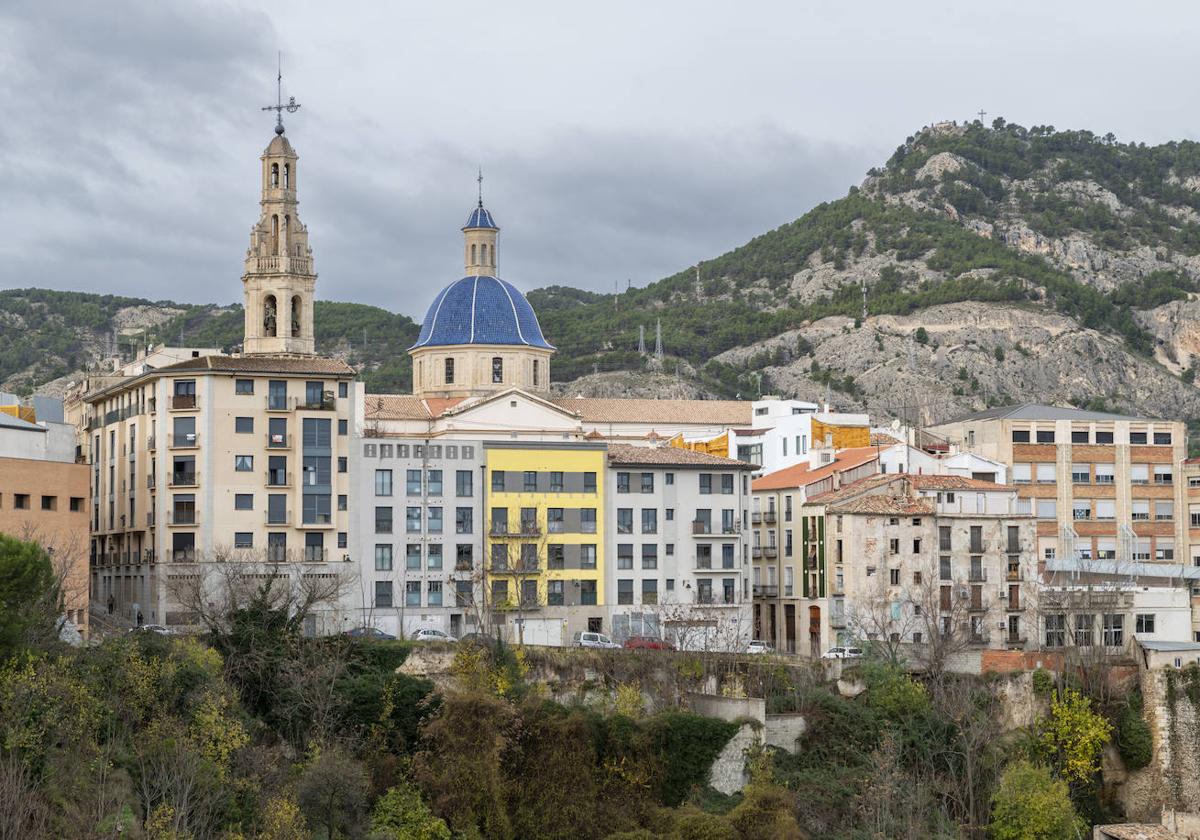
[[[610,444],[606,590],[616,638],[680,649],[750,641],[752,467],[673,446]]]

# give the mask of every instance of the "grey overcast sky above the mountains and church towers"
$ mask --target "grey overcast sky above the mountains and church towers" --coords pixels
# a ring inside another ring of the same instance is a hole
[[[276,50],[318,295],[644,284],[979,110],[1200,131],[1190,2],[0,1],[0,288],[241,300]]]

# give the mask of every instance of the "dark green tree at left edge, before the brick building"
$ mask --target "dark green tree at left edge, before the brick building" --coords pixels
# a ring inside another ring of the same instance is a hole
[[[56,636],[62,595],[50,556],[0,534],[0,661]]]

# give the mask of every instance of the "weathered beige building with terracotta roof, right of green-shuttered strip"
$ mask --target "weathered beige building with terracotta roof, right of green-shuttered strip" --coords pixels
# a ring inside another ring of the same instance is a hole
[[[877,475],[799,510],[806,649],[880,640],[931,650],[1037,644],[1033,516],[958,475]]]

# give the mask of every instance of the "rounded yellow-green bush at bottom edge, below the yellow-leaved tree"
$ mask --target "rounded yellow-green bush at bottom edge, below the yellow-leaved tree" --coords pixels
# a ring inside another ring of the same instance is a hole
[[[1025,760],[1009,764],[991,798],[995,840],[1078,840],[1085,830],[1067,782]]]

